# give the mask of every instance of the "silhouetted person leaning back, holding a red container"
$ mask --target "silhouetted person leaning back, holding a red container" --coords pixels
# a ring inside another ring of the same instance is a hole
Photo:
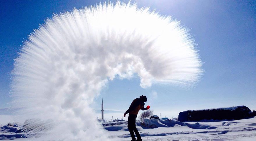
[[[136,118],[138,115],[138,112],[141,110],[148,110],[150,106],[147,106],[144,108],[145,103],[147,102],[147,97],[146,96],[140,96],[140,98],[136,98],[131,102],[131,106],[127,111],[125,111],[124,117],[126,116],[127,113],[129,113],[128,116],[128,129],[131,134],[131,141],[142,141],[141,135],[138,132],[138,129],[136,128]],[[135,135],[137,136],[137,140],[135,139]]]

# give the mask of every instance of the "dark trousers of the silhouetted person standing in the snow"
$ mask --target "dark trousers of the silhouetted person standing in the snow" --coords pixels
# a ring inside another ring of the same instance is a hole
[[[135,123],[136,118],[137,118],[137,115],[129,114],[128,116],[128,129],[131,134],[131,138],[135,138],[134,133],[136,134],[137,138],[141,138],[141,135],[138,129],[136,128],[136,123]]]

